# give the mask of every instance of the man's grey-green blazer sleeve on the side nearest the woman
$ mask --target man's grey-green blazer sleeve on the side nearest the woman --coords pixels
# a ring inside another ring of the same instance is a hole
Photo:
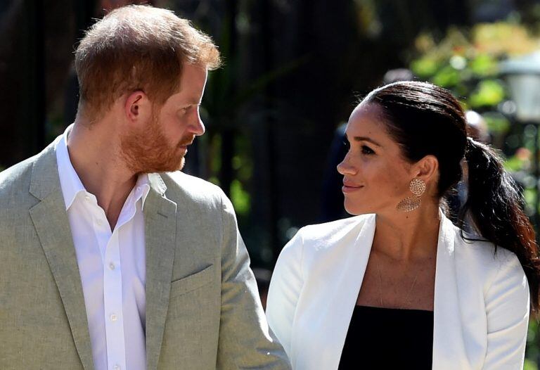
[[[221,320],[216,368],[288,370],[283,347],[269,334],[233,205],[223,193],[221,203]]]

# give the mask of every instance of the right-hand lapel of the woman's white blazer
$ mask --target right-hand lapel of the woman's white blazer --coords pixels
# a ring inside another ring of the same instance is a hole
[[[454,224],[442,211],[437,244],[435,298],[433,303],[433,363],[434,370],[467,369],[463,343],[463,328],[458,295],[458,272],[454,242]]]

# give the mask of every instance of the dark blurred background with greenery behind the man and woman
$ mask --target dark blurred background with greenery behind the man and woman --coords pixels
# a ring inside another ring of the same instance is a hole
[[[74,120],[77,40],[131,3],[172,9],[219,45],[207,133],[185,171],[233,201],[262,291],[298,228],[345,217],[335,171],[343,124],[383,82],[430,81],[478,113],[471,125],[501,150],[538,227],[540,0],[1,0],[0,168]],[[537,326],[528,370],[538,369]]]

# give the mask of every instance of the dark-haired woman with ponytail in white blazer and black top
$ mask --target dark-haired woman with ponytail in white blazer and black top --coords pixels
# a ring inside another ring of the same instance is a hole
[[[359,216],[302,228],[269,289],[266,315],[293,369],[521,369],[539,298],[534,231],[501,160],[467,137],[456,98],[386,85],[346,135],[338,171]],[[475,235],[440,208],[463,158],[460,219]]]

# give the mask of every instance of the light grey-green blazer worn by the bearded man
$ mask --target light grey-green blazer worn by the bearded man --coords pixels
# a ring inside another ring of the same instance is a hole
[[[147,369],[290,369],[269,335],[229,199],[181,172],[149,179]],[[0,173],[0,369],[93,368],[51,144]]]

